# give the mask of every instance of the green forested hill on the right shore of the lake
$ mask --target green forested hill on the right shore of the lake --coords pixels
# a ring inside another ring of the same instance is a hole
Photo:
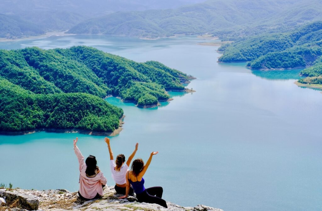
[[[322,84],[322,22],[285,33],[263,34],[225,44],[220,62],[249,61],[251,69],[307,68],[301,83]]]

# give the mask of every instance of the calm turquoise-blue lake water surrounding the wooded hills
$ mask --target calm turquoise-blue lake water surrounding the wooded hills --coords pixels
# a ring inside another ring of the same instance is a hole
[[[159,151],[145,176],[164,198],[183,206],[225,211],[322,210],[322,94],[294,84],[299,70],[258,72],[245,63],[221,64],[216,47],[186,37],[144,41],[122,37],[66,36],[0,43],[4,49],[90,45],[135,61],[158,60],[197,77],[195,93],[140,109],[110,97],[126,115],[111,138],[114,154],[145,161]],[[0,181],[14,187],[78,188],[72,139],[92,154],[113,185],[103,137],[67,133],[0,136]]]

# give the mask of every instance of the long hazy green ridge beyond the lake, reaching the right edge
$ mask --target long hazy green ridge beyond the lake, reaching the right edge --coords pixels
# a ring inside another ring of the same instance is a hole
[[[321,20],[321,6],[322,3],[317,0],[208,0],[178,9],[108,14],[82,22],[69,32],[139,37],[206,32],[249,35],[263,30],[281,31],[308,21]],[[298,15],[292,15],[296,11]],[[272,16],[278,19],[271,19]]]

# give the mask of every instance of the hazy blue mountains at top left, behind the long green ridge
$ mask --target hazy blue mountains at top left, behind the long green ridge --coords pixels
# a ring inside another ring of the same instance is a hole
[[[0,25],[0,37],[24,37],[48,31],[68,30],[87,19],[117,11],[175,8],[203,0],[2,0],[0,14],[7,20]],[[8,16],[9,15],[9,16]],[[1,20],[4,20],[2,16]],[[31,24],[33,23],[33,24]],[[12,25],[12,28],[9,26]],[[20,28],[20,26],[24,26]],[[41,28],[41,30],[39,30]]]

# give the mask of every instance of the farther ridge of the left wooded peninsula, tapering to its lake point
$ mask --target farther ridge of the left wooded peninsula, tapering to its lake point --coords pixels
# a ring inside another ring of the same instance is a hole
[[[143,102],[146,102],[145,105],[153,104],[151,96],[156,100],[168,99],[166,89],[183,90],[181,83],[188,81],[186,74],[155,61],[138,63],[89,47],[55,51],[65,58],[76,60],[95,73],[108,86],[108,94],[133,100],[135,103],[143,97],[140,105]],[[144,100],[145,97],[149,100]]]

